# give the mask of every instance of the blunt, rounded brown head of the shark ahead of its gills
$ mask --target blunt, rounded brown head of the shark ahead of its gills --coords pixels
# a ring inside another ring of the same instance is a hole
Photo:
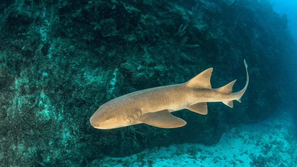
[[[121,114],[121,110],[100,106],[91,116],[90,123],[97,129],[114,129],[130,125],[130,120]]]

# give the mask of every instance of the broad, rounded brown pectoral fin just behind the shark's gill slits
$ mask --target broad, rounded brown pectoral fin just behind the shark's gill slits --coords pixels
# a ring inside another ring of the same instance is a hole
[[[168,110],[143,114],[140,121],[148,125],[162,128],[181,127],[187,124],[186,121],[170,114]]]

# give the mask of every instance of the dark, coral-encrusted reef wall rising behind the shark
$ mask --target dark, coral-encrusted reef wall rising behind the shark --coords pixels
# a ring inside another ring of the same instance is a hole
[[[105,155],[215,144],[230,127],[294,100],[284,74],[295,50],[287,18],[266,0],[1,1],[0,166],[88,166]],[[233,108],[174,112],[187,125],[173,129],[90,125],[109,100],[184,83],[209,67],[214,88],[237,79],[237,92],[244,59],[249,86]]]

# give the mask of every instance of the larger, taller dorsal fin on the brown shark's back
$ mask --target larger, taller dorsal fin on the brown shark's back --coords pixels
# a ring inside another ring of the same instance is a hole
[[[185,85],[193,88],[211,89],[210,77],[212,70],[213,68],[208,68],[207,70],[204,70],[203,72],[186,82]]]

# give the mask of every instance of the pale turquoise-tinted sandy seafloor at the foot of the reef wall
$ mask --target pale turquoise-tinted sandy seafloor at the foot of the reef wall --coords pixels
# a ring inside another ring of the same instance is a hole
[[[238,125],[212,146],[179,144],[146,149],[129,157],[89,162],[100,167],[297,167],[297,128],[290,115]]]

